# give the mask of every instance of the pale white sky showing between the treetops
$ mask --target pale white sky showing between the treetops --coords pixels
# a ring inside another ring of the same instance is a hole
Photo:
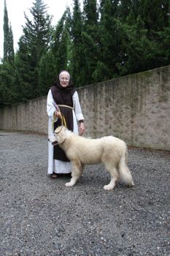
[[[23,34],[22,26],[25,25],[26,19],[24,18],[24,12],[26,15],[30,14],[29,9],[33,7],[34,0],[6,0],[8,19],[11,22],[12,32],[14,37],[14,50],[18,49],[18,40]],[[47,4],[47,13],[53,15],[52,24],[57,24],[58,20],[66,10],[66,6],[69,6],[72,10],[73,0],[44,0]],[[0,58],[3,57],[4,50],[4,0],[0,0]]]

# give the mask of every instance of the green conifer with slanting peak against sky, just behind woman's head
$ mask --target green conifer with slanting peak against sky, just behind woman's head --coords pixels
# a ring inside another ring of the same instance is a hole
[[[63,13],[61,20],[53,29],[53,37],[50,50],[45,53],[39,64],[39,79],[41,94],[47,94],[50,86],[55,82],[58,72],[62,69],[69,69],[69,8]]]

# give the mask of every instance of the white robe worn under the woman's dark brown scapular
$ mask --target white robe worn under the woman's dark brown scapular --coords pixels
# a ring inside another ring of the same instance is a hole
[[[83,120],[84,117],[82,115],[82,110],[80,106],[79,96],[77,94],[77,91],[73,94],[73,132],[78,135],[78,125],[77,121]],[[57,102],[56,102],[57,103]],[[47,115],[48,115],[48,138],[53,136],[53,129],[52,129],[52,123],[53,123],[53,114],[55,112],[55,108],[53,106],[53,95],[51,93],[51,90],[48,92],[47,95]],[[70,173],[71,170],[71,164],[70,162],[63,162],[60,160],[53,159],[53,145],[48,142],[48,169],[47,174],[54,173]]]

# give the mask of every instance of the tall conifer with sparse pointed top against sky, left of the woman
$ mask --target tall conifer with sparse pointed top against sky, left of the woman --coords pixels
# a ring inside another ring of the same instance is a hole
[[[18,86],[23,89],[23,98],[27,99],[41,96],[39,64],[47,53],[51,39],[51,18],[47,15],[47,5],[43,0],[36,0],[30,12],[32,20],[25,14],[26,26],[23,26],[16,62],[16,77],[20,78]]]

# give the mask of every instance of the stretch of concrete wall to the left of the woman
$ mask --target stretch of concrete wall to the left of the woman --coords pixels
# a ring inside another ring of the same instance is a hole
[[[0,129],[47,133],[47,97],[0,109]]]

